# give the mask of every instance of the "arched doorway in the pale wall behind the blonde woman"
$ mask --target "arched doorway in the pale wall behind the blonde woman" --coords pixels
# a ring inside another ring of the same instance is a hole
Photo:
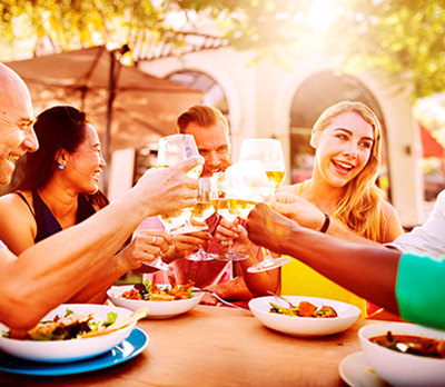
[[[297,89],[290,106],[290,167],[291,182],[310,178],[315,150],[310,147],[310,131],[320,113],[337,102],[349,100],[368,106],[385,128],[385,120],[377,100],[356,78],[333,71],[322,71],[308,77]],[[378,183],[390,200],[389,177],[383,136],[382,167]]]

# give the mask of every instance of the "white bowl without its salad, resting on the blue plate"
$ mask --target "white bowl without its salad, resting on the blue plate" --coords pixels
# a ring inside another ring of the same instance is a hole
[[[62,304],[48,312],[42,320],[53,319],[56,315],[65,316],[70,309],[75,314],[90,311],[96,319],[106,320],[107,315],[113,311],[118,315],[117,321],[131,315],[131,311],[123,308],[116,308],[105,305],[92,304]],[[109,335],[91,337],[86,339],[61,340],[61,341],[30,341],[16,340],[2,337],[1,334],[9,328],[0,327],[0,348],[12,356],[33,361],[66,363],[77,361],[89,357],[98,356],[109,351],[112,347],[123,341],[135,328],[136,322],[123,329]]]

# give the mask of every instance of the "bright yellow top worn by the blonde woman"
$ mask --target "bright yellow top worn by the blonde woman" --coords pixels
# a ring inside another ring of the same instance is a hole
[[[304,181],[299,187],[301,192]],[[358,307],[360,318],[367,317],[366,300],[322,276],[297,259],[281,266],[281,295],[334,299]]]

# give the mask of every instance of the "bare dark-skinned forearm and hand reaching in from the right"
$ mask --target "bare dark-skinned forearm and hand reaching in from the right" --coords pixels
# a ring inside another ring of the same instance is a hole
[[[400,252],[306,229],[265,204],[250,211],[247,231],[253,242],[296,257],[346,289],[399,315],[395,285]]]

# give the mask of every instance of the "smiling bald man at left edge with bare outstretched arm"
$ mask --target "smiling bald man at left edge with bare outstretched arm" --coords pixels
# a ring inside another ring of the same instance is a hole
[[[14,159],[38,149],[32,122],[27,86],[0,63],[1,185],[11,180]],[[20,257],[0,241],[0,321],[17,329],[33,327],[49,310],[88,285],[142,219],[195,206],[198,180],[187,172],[202,162],[201,157],[195,157],[160,171],[149,170],[119,200]]]

